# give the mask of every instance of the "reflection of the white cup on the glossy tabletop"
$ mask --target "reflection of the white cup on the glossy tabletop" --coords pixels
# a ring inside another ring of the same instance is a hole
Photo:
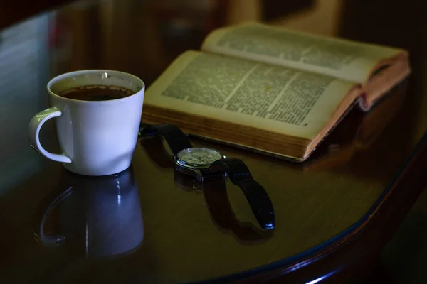
[[[61,183],[62,192],[45,198],[34,228],[43,244],[75,245],[88,257],[119,256],[142,244],[144,226],[132,168],[97,178],[64,170]],[[54,214],[56,218],[49,218]],[[44,233],[50,219],[58,220],[58,234]]]

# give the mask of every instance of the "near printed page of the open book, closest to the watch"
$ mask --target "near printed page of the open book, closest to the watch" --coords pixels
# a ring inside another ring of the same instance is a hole
[[[311,139],[352,87],[325,75],[187,51],[147,89],[144,104]]]

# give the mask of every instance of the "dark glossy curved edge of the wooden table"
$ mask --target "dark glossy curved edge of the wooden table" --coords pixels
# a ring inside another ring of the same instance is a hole
[[[391,239],[406,212],[427,185],[427,178],[422,175],[423,168],[427,168],[427,132],[408,155],[391,184],[381,192],[369,210],[345,231],[282,261],[253,268],[251,271],[192,283],[261,283],[275,280],[280,280],[278,283],[320,283],[344,280],[345,275],[368,266],[367,260],[375,258]],[[408,185],[413,188],[400,190]],[[396,210],[393,208],[396,200],[404,200],[406,203]],[[384,222],[384,216],[388,222]],[[372,234],[374,232],[376,234]],[[361,244],[366,247],[360,249]]]

